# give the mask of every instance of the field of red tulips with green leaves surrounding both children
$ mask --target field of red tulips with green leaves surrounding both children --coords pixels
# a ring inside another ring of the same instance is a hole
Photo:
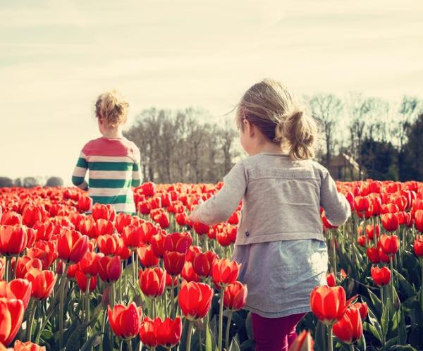
[[[188,219],[221,185],[142,184],[134,216],[77,188],[0,188],[0,351],[254,350],[231,261],[242,204]],[[423,350],[423,183],[338,191],[353,215],[336,228],[321,209],[327,285],[290,350]]]

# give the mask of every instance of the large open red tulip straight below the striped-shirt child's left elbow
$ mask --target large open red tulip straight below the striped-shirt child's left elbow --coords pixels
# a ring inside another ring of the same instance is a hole
[[[63,230],[58,242],[59,258],[66,262],[78,263],[88,250],[88,237],[76,230]]]

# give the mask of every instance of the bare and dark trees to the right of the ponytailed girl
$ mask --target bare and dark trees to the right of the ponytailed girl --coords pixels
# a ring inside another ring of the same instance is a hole
[[[321,127],[324,166],[331,168],[333,156],[343,153],[357,161],[357,178],[423,180],[423,103],[417,97],[388,104],[357,93],[343,99],[316,94],[308,102]]]

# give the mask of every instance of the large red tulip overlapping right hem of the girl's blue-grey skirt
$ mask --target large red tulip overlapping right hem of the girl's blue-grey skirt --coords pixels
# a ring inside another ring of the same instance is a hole
[[[324,324],[339,321],[347,307],[345,290],[341,286],[317,286],[310,294],[312,312]]]

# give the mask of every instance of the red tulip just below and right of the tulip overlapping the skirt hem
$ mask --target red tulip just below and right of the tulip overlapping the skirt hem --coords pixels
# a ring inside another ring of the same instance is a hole
[[[363,335],[363,325],[360,312],[355,308],[345,310],[342,318],[333,324],[333,333],[344,343],[355,343]]]

